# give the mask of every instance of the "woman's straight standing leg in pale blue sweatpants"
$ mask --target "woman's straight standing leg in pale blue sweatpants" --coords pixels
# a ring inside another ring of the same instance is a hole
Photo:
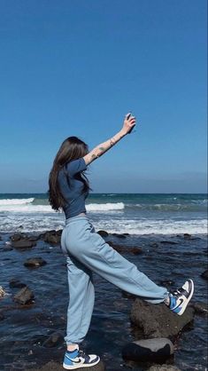
[[[63,242],[62,242],[63,249]],[[63,249],[65,253],[65,249]],[[69,252],[65,254],[69,287],[65,343],[81,343],[89,330],[95,290],[92,272]]]

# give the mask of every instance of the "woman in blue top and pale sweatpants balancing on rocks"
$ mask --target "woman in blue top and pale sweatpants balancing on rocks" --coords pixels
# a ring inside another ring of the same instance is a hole
[[[61,247],[66,257],[70,300],[67,310],[65,335],[65,369],[95,366],[100,358],[85,354],[80,349],[89,330],[94,306],[92,272],[112,282],[131,294],[158,304],[164,302],[171,311],[181,315],[194,291],[192,280],[169,293],[140,272],[135,264],[121,257],[95,231],[87,216],[85,199],[89,194],[89,181],[83,171],[135,126],[135,116],[125,116],[121,130],[112,138],[89,152],[88,146],[79,138],[66,138],[58,150],[49,179],[49,200],[53,209],[65,212],[65,228]]]

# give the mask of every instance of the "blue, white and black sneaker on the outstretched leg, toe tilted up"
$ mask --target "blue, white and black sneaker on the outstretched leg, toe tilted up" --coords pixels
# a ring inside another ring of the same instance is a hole
[[[185,311],[191,297],[194,294],[193,280],[186,280],[181,288],[169,293],[169,308],[172,312],[177,313],[179,316]]]

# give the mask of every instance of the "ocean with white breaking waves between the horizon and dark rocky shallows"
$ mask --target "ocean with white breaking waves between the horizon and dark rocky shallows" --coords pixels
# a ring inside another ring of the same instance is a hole
[[[207,233],[205,193],[91,193],[86,202],[96,229],[109,233]],[[0,232],[61,229],[63,212],[46,193],[1,193]]]

